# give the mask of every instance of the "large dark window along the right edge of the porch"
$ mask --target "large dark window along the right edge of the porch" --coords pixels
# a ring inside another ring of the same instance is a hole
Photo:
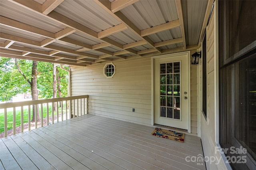
[[[218,4],[220,145],[232,168],[256,169],[256,1]]]

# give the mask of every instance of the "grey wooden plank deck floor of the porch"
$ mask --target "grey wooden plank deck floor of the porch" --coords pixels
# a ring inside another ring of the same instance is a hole
[[[203,154],[201,140],[150,135],[154,127],[84,115],[0,139],[0,169],[205,169],[187,162]]]

